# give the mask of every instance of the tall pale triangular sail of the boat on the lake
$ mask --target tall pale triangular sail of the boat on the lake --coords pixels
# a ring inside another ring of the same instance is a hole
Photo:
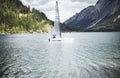
[[[56,11],[56,15],[55,15],[55,22],[54,22],[54,33],[55,33],[58,37],[61,37],[58,1],[56,1],[55,11]]]

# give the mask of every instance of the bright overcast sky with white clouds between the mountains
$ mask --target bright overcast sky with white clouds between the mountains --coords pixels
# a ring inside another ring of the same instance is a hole
[[[55,19],[56,0],[21,0],[24,5],[30,5],[46,14],[48,19]],[[57,0],[59,3],[60,21],[64,22],[74,14],[80,12],[89,5],[95,5],[97,0]]]

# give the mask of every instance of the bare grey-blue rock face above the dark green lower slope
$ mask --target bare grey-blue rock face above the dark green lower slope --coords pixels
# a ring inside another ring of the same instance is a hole
[[[120,11],[120,0],[99,0],[95,6],[89,6],[75,14],[64,24],[74,30],[92,27],[102,20]]]

